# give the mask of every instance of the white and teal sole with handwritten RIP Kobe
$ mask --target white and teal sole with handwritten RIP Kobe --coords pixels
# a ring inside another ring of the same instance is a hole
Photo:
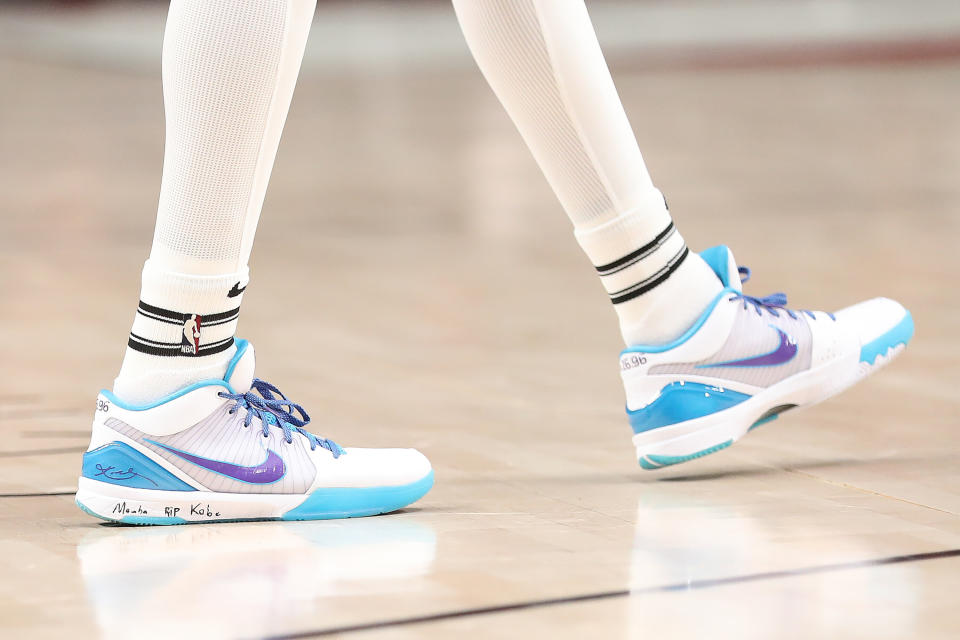
[[[110,522],[175,525],[256,520],[331,520],[389,513],[433,487],[433,471],[409,484],[330,487],[309,494],[249,494],[131,489],[80,478],[77,506]]]

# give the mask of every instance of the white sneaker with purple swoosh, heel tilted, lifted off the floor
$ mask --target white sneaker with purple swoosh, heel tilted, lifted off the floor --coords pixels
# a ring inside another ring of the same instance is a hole
[[[788,409],[825,400],[887,364],[913,335],[910,313],[893,300],[791,310],[782,293],[744,295],[750,270],[727,247],[700,255],[722,293],[674,342],[620,354],[644,469],[719,451]]]

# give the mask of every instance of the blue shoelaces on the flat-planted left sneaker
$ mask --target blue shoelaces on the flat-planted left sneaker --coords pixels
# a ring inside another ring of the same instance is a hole
[[[256,390],[260,395],[256,395]],[[277,394],[280,397],[278,398]],[[283,429],[283,439],[287,444],[293,442],[293,434],[299,433],[310,442],[310,450],[313,451],[318,446],[323,447],[333,454],[334,458],[339,458],[341,454],[346,453],[343,448],[333,440],[318,438],[304,427],[310,422],[310,416],[299,404],[287,399],[280,389],[275,386],[255,378],[246,393],[227,393],[221,391],[217,394],[221,398],[233,400],[234,405],[230,408],[230,413],[236,413],[239,409],[246,409],[247,415],[243,419],[243,426],[249,427],[254,417],[260,418],[263,423],[263,437],[270,436],[270,425]],[[299,417],[297,417],[299,414]]]

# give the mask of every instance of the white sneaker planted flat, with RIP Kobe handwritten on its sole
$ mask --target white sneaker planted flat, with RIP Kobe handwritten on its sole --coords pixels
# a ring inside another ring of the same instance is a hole
[[[104,520],[185,524],[314,520],[387,513],[433,486],[414,449],[352,449],[304,429],[310,418],[253,377],[237,340],[222,380],[149,406],[101,391],[77,504]]]

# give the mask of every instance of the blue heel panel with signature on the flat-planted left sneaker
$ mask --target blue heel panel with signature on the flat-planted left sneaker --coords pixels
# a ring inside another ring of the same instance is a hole
[[[81,475],[131,489],[196,491],[196,488],[122,442],[111,442],[83,454]]]

